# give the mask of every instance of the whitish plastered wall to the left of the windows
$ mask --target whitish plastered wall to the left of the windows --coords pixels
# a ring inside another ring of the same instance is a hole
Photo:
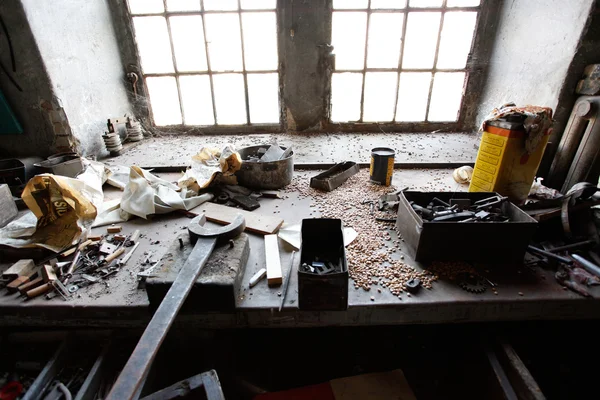
[[[100,153],[106,119],[131,112],[106,0],[22,3],[77,149]]]

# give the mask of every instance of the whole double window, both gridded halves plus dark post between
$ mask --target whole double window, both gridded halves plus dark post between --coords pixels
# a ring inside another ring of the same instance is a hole
[[[294,112],[325,130],[462,129],[491,43],[480,0],[127,2],[149,117],[174,131],[272,131]]]

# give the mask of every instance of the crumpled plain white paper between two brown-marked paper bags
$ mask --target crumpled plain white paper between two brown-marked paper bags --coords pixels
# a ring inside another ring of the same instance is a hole
[[[147,219],[148,215],[152,214],[191,210],[213,197],[209,193],[187,197],[187,193],[177,185],[133,166],[129,170],[129,182],[123,191],[120,208],[129,214]]]

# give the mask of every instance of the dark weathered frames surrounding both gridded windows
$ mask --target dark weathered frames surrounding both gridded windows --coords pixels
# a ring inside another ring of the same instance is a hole
[[[318,4],[317,4],[318,3]],[[238,1],[239,4],[239,1]],[[133,19],[129,12],[129,6],[127,0],[110,0],[109,5],[113,14],[114,28],[119,38],[119,49],[121,53],[121,61],[126,72],[124,76],[124,84],[130,94],[130,99],[133,106],[133,111],[136,117],[138,117],[145,125],[146,129],[156,133],[187,133],[187,134],[251,134],[251,133],[281,133],[287,132],[289,125],[289,112],[285,104],[285,99],[292,98],[301,99],[299,96],[295,96],[297,93],[294,92],[293,88],[285,87],[284,82],[286,80],[286,64],[293,63],[297,60],[284,59],[286,56],[286,44],[285,41],[293,41],[293,35],[288,37],[288,33],[294,31],[294,27],[298,21],[293,19],[294,16],[294,2],[293,0],[277,0],[276,8],[274,10],[276,15],[276,28],[277,28],[277,52],[278,52],[278,68],[277,72],[279,75],[279,123],[278,124],[244,124],[244,125],[167,125],[167,126],[156,126],[151,119],[150,101],[148,91],[145,83],[142,80],[142,70],[140,65],[140,55],[135,41]],[[445,0],[444,0],[445,4]],[[314,7],[315,13],[322,13],[319,17],[321,24],[325,27],[327,34],[321,36],[321,41],[315,43],[315,47],[326,50],[327,43],[331,43],[332,35],[332,17],[333,17],[333,0],[321,0],[315,1],[315,4],[311,3],[311,7]],[[395,12],[408,12],[409,9],[414,7],[407,7],[403,10],[394,10]],[[436,8],[436,9],[439,9]],[[473,9],[473,7],[452,7],[452,10],[460,11],[461,9]],[[433,133],[433,132],[465,132],[476,130],[476,117],[478,113],[479,100],[481,98],[482,89],[484,88],[485,80],[488,71],[488,61],[492,51],[492,47],[495,41],[496,29],[497,29],[497,18],[501,9],[501,2],[495,2],[492,0],[481,0],[481,4],[478,6],[478,15],[475,24],[474,39],[471,43],[471,52],[467,59],[466,77],[463,89],[463,97],[459,112],[459,119],[456,122],[340,122],[334,123],[330,121],[331,113],[331,77],[334,72],[330,54],[327,51],[323,51],[322,55],[319,56],[319,64],[323,64],[323,72],[316,71],[317,74],[322,73],[322,78],[326,85],[324,85],[324,94],[318,96],[318,101],[323,104],[322,110],[318,110],[318,123],[312,128],[305,129],[303,132],[321,132],[321,133],[352,133],[352,132],[394,132],[398,134],[402,133]],[[166,8],[165,8],[166,10]],[[423,11],[423,9],[419,9]],[[425,9],[428,11],[432,9]],[[260,10],[259,10],[260,11]],[[262,10],[264,11],[264,10]],[[273,12],[273,10],[269,10]],[[351,10],[343,10],[351,11]],[[355,10],[356,11],[356,10]],[[367,11],[361,9],[360,11]],[[212,11],[211,11],[212,12]],[[227,11],[225,11],[227,12]],[[233,13],[241,12],[241,10],[229,11]],[[254,10],[248,10],[243,12],[254,12]],[[376,12],[379,12],[377,10]],[[180,14],[198,14],[198,11],[194,12],[177,12]],[[164,14],[167,14],[165,11]],[[164,14],[152,14],[153,16],[160,16]],[[168,14],[175,14],[170,12]],[[290,16],[292,18],[290,18]],[[404,21],[406,22],[406,21]],[[403,31],[405,31],[405,25],[403,24]],[[440,24],[440,31],[442,25]],[[240,26],[240,29],[243,29]],[[404,35],[404,33],[403,33]],[[438,33],[439,36],[439,33]],[[404,36],[403,36],[404,38]],[[439,46],[436,44],[436,49]],[[249,71],[253,73],[254,71]],[[259,71],[260,72],[260,71]],[[272,71],[269,71],[272,72]],[[359,71],[355,71],[359,72]],[[362,71],[360,71],[362,72]],[[136,74],[138,79],[136,80],[131,74]],[[245,75],[245,74],[244,74]],[[246,79],[246,78],[245,78]],[[319,78],[321,79],[321,78]],[[132,86],[136,88],[137,94],[134,94]],[[247,90],[247,86],[246,89]],[[363,94],[361,94],[363,96]],[[397,96],[397,93],[396,93]],[[317,99],[315,97],[314,99]],[[313,99],[313,100],[314,100]],[[214,103],[213,103],[214,104]],[[246,107],[249,107],[249,103],[246,102]],[[214,106],[213,106],[214,108]],[[248,112],[248,111],[247,111]],[[247,114],[248,115],[248,114]],[[293,125],[292,125],[293,126]],[[294,131],[295,129],[291,129]]]

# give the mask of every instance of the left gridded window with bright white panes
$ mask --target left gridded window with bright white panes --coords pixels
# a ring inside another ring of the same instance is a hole
[[[155,125],[279,124],[275,0],[128,0]]]

